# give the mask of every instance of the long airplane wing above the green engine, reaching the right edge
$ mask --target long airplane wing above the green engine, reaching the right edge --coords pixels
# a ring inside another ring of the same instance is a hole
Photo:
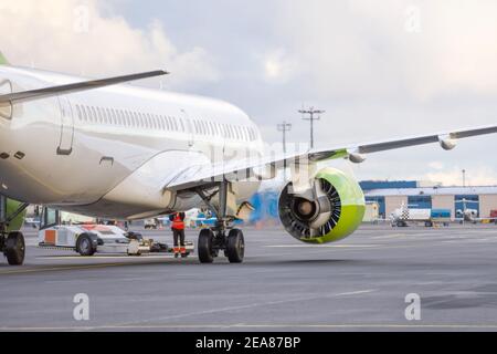
[[[401,147],[438,143],[444,149],[452,149],[459,138],[497,133],[497,125],[458,129],[438,134],[429,134],[400,139],[345,145],[325,149],[314,149],[286,155],[258,157],[240,157],[231,162],[193,164],[175,176],[166,188],[171,190],[194,189],[200,186],[214,185],[222,180],[247,180],[264,178],[264,170],[274,176],[274,170],[283,166],[311,165],[317,162],[348,158],[352,163],[362,163],[364,155],[398,149]],[[271,178],[271,177],[269,177]]]

